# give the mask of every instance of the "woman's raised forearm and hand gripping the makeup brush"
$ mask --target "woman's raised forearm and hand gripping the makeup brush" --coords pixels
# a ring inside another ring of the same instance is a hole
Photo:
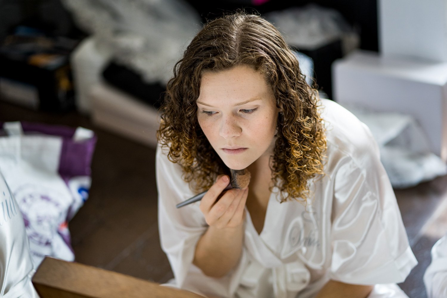
[[[228,185],[221,176],[200,202],[200,210],[209,225],[198,240],[193,264],[211,277],[223,277],[240,259],[244,238],[244,207],[247,189],[230,189],[217,200]]]

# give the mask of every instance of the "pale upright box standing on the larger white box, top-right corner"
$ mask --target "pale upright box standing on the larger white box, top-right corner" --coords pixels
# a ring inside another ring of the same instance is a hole
[[[447,62],[447,0],[380,0],[380,53]]]

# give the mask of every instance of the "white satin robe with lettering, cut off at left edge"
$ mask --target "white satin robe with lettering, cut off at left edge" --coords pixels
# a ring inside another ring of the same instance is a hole
[[[0,297],[38,298],[25,223],[0,172]]]

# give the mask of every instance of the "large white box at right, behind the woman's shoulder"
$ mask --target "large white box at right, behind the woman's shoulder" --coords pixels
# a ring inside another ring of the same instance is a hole
[[[332,72],[335,101],[413,116],[432,152],[447,161],[447,63],[356,51],[336,60]]]

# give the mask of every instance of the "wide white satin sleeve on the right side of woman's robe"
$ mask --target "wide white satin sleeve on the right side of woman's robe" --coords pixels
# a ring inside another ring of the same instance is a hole
[[[334,176],[330,277],[350,284],[398,283],[417,261],[368,132],[344,154]]]

